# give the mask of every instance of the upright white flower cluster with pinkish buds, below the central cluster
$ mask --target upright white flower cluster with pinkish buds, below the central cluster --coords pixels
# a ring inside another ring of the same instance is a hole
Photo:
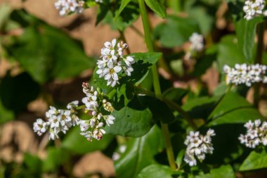
[[[104,114],[103,110],[105,110],[105,113],[109,114],[113,112],[114,108],[112,104],[104,98],[102,93],[95,91],[88,83],[82,84],[82,87],[86,94],[86,97],[82,98],[82,102],[86,106],[86,112],[91,112],[93,117],[91,117],[90,120],[81,120],[79,122],[82,131],[81,134],[89,141],[93,138],[100,140],[103,134],[105,134],[103,127],[105,127],[105,125],[112,125],[115,120],[114,116]]]

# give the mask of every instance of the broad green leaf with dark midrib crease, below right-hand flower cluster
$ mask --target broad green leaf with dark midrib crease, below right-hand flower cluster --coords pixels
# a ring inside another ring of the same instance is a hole
[[[245,123],[261,118],[261,114],[245,98],[229,92],[209,115],[208,126]]]

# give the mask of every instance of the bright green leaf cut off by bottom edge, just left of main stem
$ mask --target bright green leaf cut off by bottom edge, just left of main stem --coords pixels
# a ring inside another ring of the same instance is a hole
[[[166,165],[149,165],[138,174],[137,178],[173,178],[171,176],[173,173]]]

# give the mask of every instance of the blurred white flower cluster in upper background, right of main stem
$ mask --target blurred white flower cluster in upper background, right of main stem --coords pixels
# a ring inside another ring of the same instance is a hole
[[[202,34],[194,32],[190,38],[190,48],[185,54],[185,59],[195,58],[198,53],[204,50],[204,37]]]

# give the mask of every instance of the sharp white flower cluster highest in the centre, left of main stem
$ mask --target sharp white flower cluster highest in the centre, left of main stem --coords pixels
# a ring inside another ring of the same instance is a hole
[[[116,84],[119,84],[119,73],[122,70],[125,75],[131,76],[131,72],[133,72],[131,65],[135,61],[133,56],[123,56],[123,51],[127,48],[128,44],[117,43],[117,39],[113,39],[112,42],[105,42],[104,48],[101,49],[101,59],[97,62],[96,73],[108,81],[108,86],[115,87]]]

